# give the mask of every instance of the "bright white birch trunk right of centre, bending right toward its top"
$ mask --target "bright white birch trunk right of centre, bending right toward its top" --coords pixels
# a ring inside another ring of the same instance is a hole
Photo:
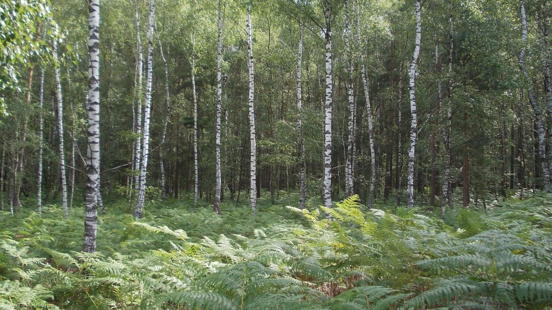
[[[412,61],[410,62],[410,113],[412,120],[410,124],[410,147],[408,149],[408,185],[406,193],[408,195],[408,207],[414,207],[414,152],[416,147],[416,134],[418,126],[418,115],[416,112],[416,63],[420,55],[420,41],[422,38],[420,0],[416,0],[416,46]]]

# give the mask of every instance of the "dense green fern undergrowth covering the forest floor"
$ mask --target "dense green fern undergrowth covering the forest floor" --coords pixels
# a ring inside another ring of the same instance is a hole
[[[551,309],[552,195],[455,208],[444,220],[353,196],[331,210],[282,193],[222,215],[126,200],[79,252],[83,208],[0,213],[0,309]],[[333,221],[323,219],[329,212]]]

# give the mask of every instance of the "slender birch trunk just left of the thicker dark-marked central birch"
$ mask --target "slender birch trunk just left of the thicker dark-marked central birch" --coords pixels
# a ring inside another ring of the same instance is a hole
[[[299,45],[297,48],[297,153],[299,158],[299,173],[300,173],[300,185],[299,185],[299,207],[305,209],[306,200],[306,165],[305,165],[305,141],[302,132],[302,88],[301,88],[301,58],[303,54],[303,24],[299,19]],[[274,200],[274,190],[272,184],[272,173],[270,176],[270,193]]]

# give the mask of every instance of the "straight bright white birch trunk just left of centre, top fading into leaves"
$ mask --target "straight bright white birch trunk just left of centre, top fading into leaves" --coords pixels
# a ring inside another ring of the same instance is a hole
[[[253,99],[255,94],[255,84],[253,76],[253,41],[251,39],[251,13],[247,10],[247,52],[249,55],[249,127],[251,141],[250,156],[250,200],[253,216],[257,216],[257,141],[255,135],[255,110],[253,108]]]

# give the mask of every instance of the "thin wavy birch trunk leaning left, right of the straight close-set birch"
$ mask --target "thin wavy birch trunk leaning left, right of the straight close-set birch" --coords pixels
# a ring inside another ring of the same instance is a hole
[[[358,48],[360,49],[360,11],[358,7],[358,1],[357,1],[357,41],[358,41]],[[368,77],[366,74],[366,68],[364,66],[364,56],[363,52],[360,51],[360,75],[362,76],[362,83],[364,88],[364,98],[365,98],[365,104],[364,104],[364,111],[362,113],[362,119],[368,120],[368,140],[370,141],[370,163],[371,163],[371,180],[370,180],[370,193],[368,197],[368,208],[371,209],[374,205],[374,193],[376,188],[376,173],[377,173],[377,166],[376,166],[376,154],[375,154],[375,143],[374,143],[374,123],[372,121],[372,109],[370,106],[370,94],[368,91]]]

